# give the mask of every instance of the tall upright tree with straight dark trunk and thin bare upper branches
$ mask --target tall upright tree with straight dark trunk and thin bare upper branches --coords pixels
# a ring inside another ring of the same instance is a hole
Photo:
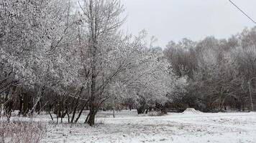
[[[99,105],[106,100],[102,96],[109,82],[122,70],[123,63],[118,63],[116,69],[104,71],[109,60],[115,58],[114,51],[118,47],[112,44],[119,39],[119,27],[122,25],[122,12],[124,11],[120,1],[92,1],[85,0],[81,4],[81,15],[86,40],[90,74],[90,113],[86,122],[93,125]],[[114,57],[111,57],[114,56]],[[115,59],[114,59],[115,60]]]

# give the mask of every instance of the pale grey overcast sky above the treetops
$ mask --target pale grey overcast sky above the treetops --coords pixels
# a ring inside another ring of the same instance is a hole
[[[233,2],[256,20],[255,0]],[[227,38],[255,26],[229,0],[122,0],[122,4],[128,15],[123,28],[132,34],[145,29],[149,36],[157,37],[156,45],[161,47],[185,37]]]

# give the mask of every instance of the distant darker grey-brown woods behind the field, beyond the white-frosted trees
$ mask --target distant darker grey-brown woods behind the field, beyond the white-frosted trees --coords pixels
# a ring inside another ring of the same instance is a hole
[[[164,53],[175,74],[188,77],[186,93],[173,100],[178,109],[194,107],[204,112],[253,109],[256,27],[244,29],[229,39],[209,36],[201,41],[170,41]]]

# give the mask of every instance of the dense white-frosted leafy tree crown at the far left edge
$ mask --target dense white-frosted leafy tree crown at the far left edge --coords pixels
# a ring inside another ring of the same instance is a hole
[[[37,88],[35,105],[58,74],[52,49],[63,39],[69,6],[68,1],[57,0],[0,2],[0,59],[8,67],[3,70],[12,73],[19,87]]]

